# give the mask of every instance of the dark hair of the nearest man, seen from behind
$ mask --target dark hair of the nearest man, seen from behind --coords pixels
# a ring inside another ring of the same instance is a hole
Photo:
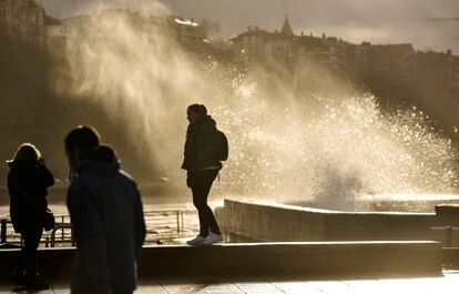
[[[79,146],[83,156],[89,156],[101,144],[101,135],[90,125],[79,125],[65,136],[65,150]]]

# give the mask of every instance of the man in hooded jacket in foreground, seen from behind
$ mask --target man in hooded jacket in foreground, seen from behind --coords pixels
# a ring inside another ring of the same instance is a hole
[[[120,170],[113,149],[100,141],[98,131],[85,125],[65,138],[76,175],[67,197],[76,241],[71,293],[132,294],[145,239],[141,194]]]

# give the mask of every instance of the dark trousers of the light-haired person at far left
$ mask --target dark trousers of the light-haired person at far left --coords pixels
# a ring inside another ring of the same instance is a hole
[[[28,280],[33,280],[37,275],[37,249],[42,234],[42,227],[30,227],[21,232],[24,245],[22,246],[16,272],[20,274],[26,271]]]

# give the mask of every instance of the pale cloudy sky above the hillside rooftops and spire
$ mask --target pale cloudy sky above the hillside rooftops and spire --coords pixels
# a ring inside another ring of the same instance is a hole
[[[459,55],[459,21],[425,21],[459,18],[458,0],[39,0],[48,14],[63,18],[84,13],[96,3],[132,10],[174,13],[218,22],[233,37],[258,26],[280,29],[288,14],[296,34],[334,36],[360,43],[412,43],[418,50]]]

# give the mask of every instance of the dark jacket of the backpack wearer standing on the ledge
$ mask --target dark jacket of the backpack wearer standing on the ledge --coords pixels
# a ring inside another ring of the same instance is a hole
[[[216,123],[211,115],[205,115],[195,124],[190,124],[186,131],[182,169],[187,171],[215,166],[222,169],[222,163],[218,161],[221,143]]]

